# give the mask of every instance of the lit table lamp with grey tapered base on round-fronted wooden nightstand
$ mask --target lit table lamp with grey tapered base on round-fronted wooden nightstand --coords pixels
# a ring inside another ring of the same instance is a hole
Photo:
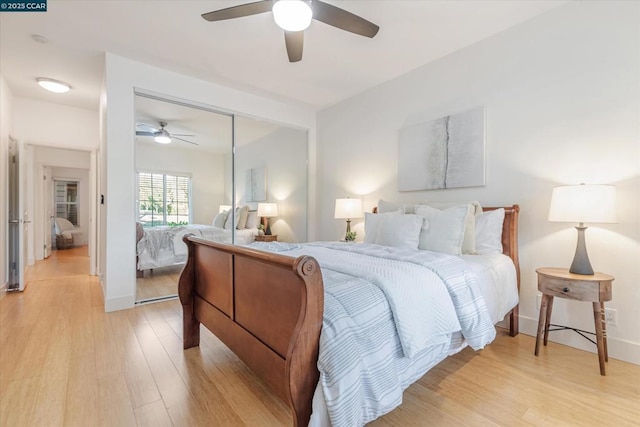
[[[551,193],[549,221],[577,222],[578,243],[569,272],[592,275],[587,255],[585,222],[615,223],[616,188],[612,185],[566,185],[555,187]]]

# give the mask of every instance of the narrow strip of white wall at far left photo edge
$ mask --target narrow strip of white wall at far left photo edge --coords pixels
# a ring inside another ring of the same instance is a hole
[[[0,290],[5,290],[8,277],[8,224],[9,206],[4,203],[9,200],[8,179],[9,173],[9,135],[13,132],[13,94],[6,81],[0,75],[0,200],[3,201],[0,208]]]

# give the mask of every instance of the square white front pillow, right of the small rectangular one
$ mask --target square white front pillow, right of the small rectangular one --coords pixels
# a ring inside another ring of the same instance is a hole
[[[419,206],[416,214],[425,217],[420,232],[419,249],[462,254],[465,223],[471,205],[459,205],[440,210],[431,206]]]

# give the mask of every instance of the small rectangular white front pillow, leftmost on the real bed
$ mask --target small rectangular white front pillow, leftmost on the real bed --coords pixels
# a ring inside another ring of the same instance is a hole
[[[376,244],[396,248],[418,249],[423,218],[418,215],[380,214]]]

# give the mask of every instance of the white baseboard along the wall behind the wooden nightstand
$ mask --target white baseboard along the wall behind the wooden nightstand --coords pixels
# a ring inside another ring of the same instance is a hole
[[[538,333],[538,319],[520,316],[520,333],[535,337]],[[589,351],[594,354],[598,352],[598,349],[593,343],[587,341],[585,338],[571,330],[555,331],[549,334],[549,341]],[[609,357],[612,359],[618,359],[623,362],[640,365],[639,343],[617,339],[611,337],[609,334],[607,336],[607,349],[609,351]],[[533,350],[534,349],[532,348],[531,351],[533,352]]]

